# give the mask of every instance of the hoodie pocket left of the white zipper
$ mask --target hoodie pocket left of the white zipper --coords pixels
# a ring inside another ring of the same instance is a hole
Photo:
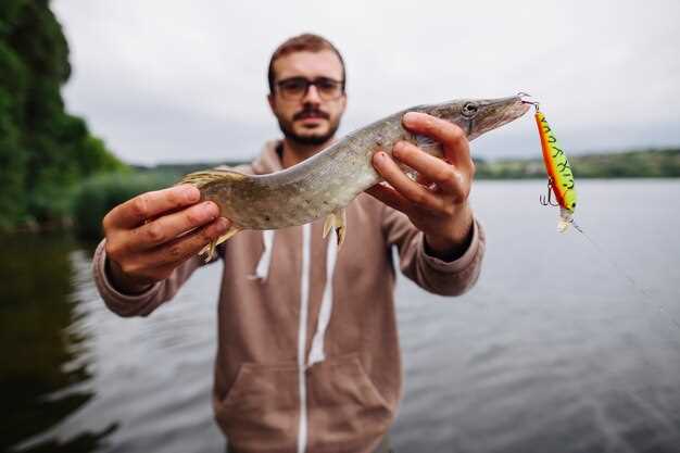
[[[299,406],[295,363],[244,363],[215,417],[237,451],[294,451]]]

